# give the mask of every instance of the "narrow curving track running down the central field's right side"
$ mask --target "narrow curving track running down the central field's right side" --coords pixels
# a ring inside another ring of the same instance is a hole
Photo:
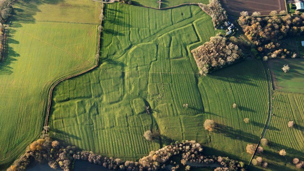
[[[263,66],[264,66],[264,70],[265,70],[265,74],[266,74],[266,79],[267,79],[267,87],[268,87],[268,116],[267,116],[267,119],[266,119],[266,122],[265,122],[265,126],[263,128],[263,131],[261,133],[259,143],[256,146],[254,154],[253,154],[253,156],[252,156],[252,158],[251,158],[251,160],[249,162],[248,170],[251,167],[252,159],[254,159],[254,157],[255,157],[255,155],[257,153],[257,149],[258,149],[258,147],[260,145],[261,139],[265,137],[265,134],[266,134],[266,132],[268,130],[268,126],[269,126],[269,123],[270,123],[270,120],[271,120],[271,112],[272,112],[272,83],[271,83],[271,78],[270,78],[270,72],[269,72],[269,69],[268,69],[268,65],[264,61],[262,63],[263,63]]]

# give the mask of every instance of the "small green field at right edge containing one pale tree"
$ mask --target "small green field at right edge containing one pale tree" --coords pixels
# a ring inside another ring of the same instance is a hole
[[[270,59],[268,66],[276,90],[304,93],[304,59]],[[290,70],[284,73],[283,65]]]

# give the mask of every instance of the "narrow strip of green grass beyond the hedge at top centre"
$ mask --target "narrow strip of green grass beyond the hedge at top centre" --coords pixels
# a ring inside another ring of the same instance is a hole
[[[161,8],[165,8],[165,7],[172,7],[175,5],[179,5],[182,3],[209,3],[209,0],[161,0],[162,4],[161,4]],[[159,2],[157,0],[133,0],[132,1],[133,4],[135,5],[143,5],[146,7],[154,7],[154,8],[158,8],[159,7]]]

